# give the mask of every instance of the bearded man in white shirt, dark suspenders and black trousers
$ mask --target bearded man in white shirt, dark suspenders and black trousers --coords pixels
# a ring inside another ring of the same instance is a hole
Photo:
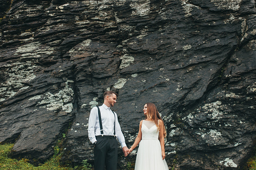
[[[124,135],[117,120],[117,114],[110,107],[116,103],[117,93],[106,91],[104,104],[93,107],[89,117],[88,135],[94,144],[94,169],[117,169],[117,139],[121,143],[124,155],[128,155]],[[117,138],[117,139],[116,139]]]

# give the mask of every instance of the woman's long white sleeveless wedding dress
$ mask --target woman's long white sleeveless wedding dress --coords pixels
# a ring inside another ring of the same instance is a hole
[[[142,139],[139,143],[134,170],[168,169],[165,159],[162,160],[161,145],[158,140],[159,131],[155,123],[143,120],[141,132]]]

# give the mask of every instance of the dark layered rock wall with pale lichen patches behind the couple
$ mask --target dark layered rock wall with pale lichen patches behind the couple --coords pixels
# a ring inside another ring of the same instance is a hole
[[[0,142],[15,142],[15,157],[42,162],[67,133],[63,159],[93,160],[90,110],[113,90],[128,147],[153,102],[170,167],[244,166],[255,146],[255,1],[0,5]]]

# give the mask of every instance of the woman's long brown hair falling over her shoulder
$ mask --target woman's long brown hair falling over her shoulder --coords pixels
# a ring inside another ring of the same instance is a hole
[[[158,124],[158,120],[159,119],[162,120],[162,118],[160,117],[160,114],[156,106],[153,103],[146,103],[146,105],[147,105],[147,114],[145,115],[146,119],[149,118],[153,120],[157,129],[160,132],[160,126]],[[166,137],[166,130],[165,130],[164,124],[163,124],[163,136]]]

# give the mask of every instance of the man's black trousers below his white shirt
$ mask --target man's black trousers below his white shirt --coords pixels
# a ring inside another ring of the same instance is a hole
[[[96,136],[97,143],[94,148],[94,169],[117,169],[117,139],[114,136]]]

